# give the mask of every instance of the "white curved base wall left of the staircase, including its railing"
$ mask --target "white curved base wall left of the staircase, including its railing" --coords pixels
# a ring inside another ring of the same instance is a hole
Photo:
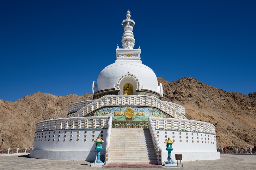
[[[39,122],[36,126],[34,150],[30,151],[29,156],[40,159],[93,161],[96,156],[94,140],[99,136],[105,141],[102,143],[102,155],[105,155],[108,126],[108,116]]]

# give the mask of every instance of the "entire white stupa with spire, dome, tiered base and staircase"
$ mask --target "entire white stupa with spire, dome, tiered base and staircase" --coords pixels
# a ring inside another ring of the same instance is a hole
[[[93,100],[69,106],[67,118],[38,122],[30,157],[95,160],[94,140],[102,143],[101,158],[108,163],[159,164],[167,160],[168,138],[183,161],[219,159],[215,126],[188,120],[181,105],[162,101],[162,84],[140,60],[130,11],[123,20],[122,46],[115,63],[93,82]],[[174,157],[173,157],[174,159]]]

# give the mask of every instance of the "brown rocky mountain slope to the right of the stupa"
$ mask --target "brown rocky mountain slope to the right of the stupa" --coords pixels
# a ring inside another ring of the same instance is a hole
[[[209,122],[216,126],[217,147],[256,145],[256,92],[248,95],[226,92],[184,77],[163,85],[162,100],[186,108],[188,119]]]

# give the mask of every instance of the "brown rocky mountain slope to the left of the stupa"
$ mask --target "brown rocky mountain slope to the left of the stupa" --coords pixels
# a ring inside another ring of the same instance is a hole
[[[41,92],[15,102],[0,99],[0,140],[4,139],[3,147],[33,147],[37,122],[67,117],[69,105],[91,99],[89,93],[55,96]]]

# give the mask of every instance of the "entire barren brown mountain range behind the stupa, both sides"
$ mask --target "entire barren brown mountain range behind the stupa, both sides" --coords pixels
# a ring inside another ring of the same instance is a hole
[[[159,77],[158,82],[163,85],[162,100],[183,105],[189,119],[216,126],[218,148],[256,145],[256,92],[248,95],[225,92],[192,77],[173,82]],[[5,140],[3,148],[33,147],[37,122],[66,117],[69,105],[90,99],[92,95],[89,93],[55,96],[41,92],[15,102],[0,99],[0,140]]]

